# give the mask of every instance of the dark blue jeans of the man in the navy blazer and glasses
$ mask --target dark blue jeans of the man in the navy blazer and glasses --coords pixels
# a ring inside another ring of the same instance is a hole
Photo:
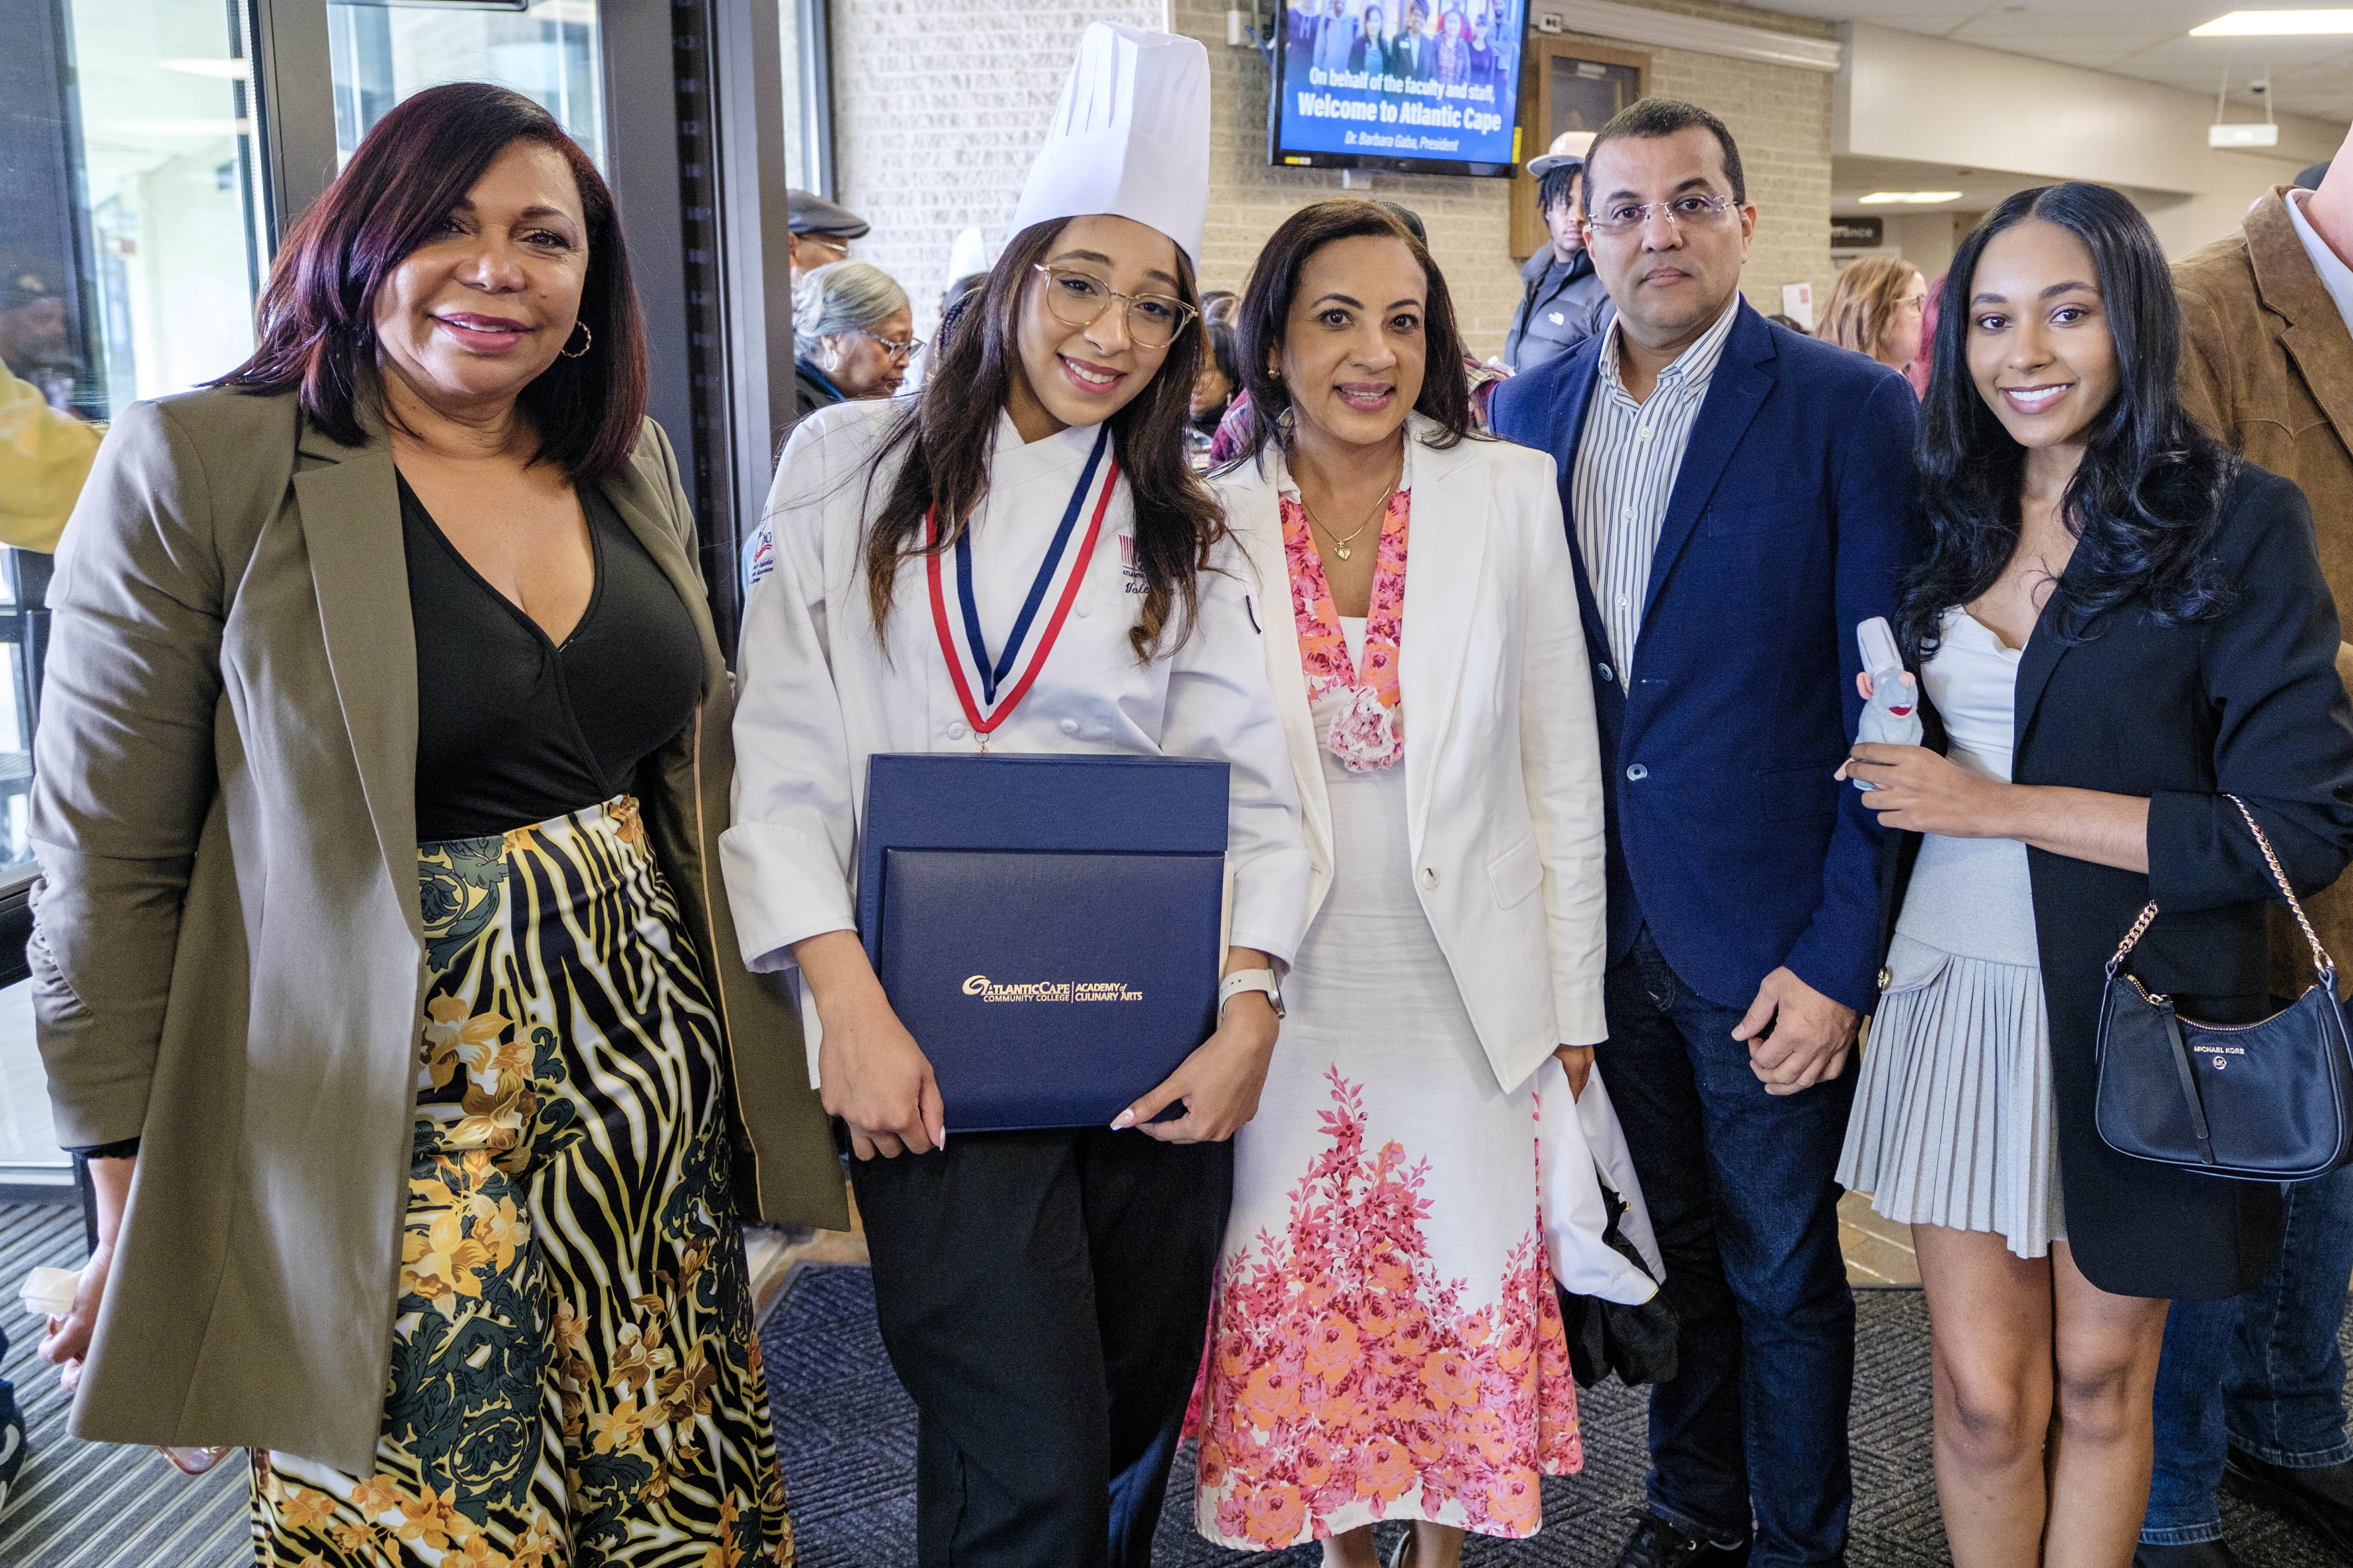
[[[1649,1507],[1715,1537],[1753,1519],[1753,1568],[1845,1563],[1854,1295],[1833,1171],[1854,1079],[1767,1095],[1732,1039],[1746,1009],[1694,994],[1649,929],[1602,1004],[1598,1060],[1680,1319],[1680,1371],[1649,1396]]]

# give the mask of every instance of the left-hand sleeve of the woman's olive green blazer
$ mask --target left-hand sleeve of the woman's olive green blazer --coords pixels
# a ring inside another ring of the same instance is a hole
[[[56,1138],[136,1138],[181,905],[214,795],[221,559],[205,465],[169,409],[99,449],[49,583],[33,738],[33,1009]]]

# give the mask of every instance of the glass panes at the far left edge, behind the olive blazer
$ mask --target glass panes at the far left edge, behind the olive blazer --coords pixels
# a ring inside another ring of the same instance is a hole
[[[16,5],[0,49],[0,362],[106,421],[254,348],[266,263],[247,47],[221,0]],[[0,555],[0,931],[24,936],[49,557]],[[0,950],[0,973],[24,973]],[[0,1182],[64,1171],[26,985],[0,990]]]

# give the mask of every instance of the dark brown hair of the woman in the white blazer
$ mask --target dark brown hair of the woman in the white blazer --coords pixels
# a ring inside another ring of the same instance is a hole
[[[1471,383],[1464,381],[1464,339],[1454,324],[1454,296],[1447,277],[1431,261],[1431,252],[1398,214],[1381,202],[1362,197],[1339,197],[1332,202],[1308,202],[1266,237],[1249,268],[1249,284],[1242,289],[1242,308],[1233,317],[1233,350],[1242,362],[1242,386],[1249,390],[1249,435],[1235,463],[1254,461],[1268,444],[1289,451],[1292,393],[1285,388],[1266,360],[1282,348],[1289,329],[1292,299],[1299,294],[1299,273],[1308,256],[1334,240],[1381,237],[1398,240],[1414,254],[1421,268],[1428,299],[1424,301],[1421,341],[1428,360],[1421,371],[1421,395],[1414,411],[1435,421],[1440,435],[1431,447],[1452,447],[1471,433]]]

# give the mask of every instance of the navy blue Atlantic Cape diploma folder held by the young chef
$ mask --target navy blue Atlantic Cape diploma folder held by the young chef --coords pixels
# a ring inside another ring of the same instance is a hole
[[[1108,1126],[1217,1027],[1226,764],[868,762],[859,936],[953,1133]]]

